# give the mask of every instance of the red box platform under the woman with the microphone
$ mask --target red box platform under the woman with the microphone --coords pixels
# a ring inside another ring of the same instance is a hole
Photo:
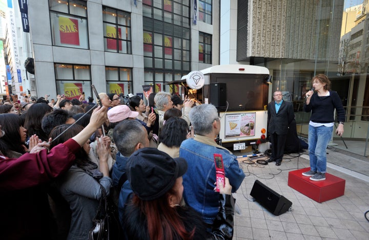
[[[312,181],[302,176],[310,167],[290,171],[288,185],[318,203],[338,198],[344,194],[345,180],[325,173],[325,180]]]

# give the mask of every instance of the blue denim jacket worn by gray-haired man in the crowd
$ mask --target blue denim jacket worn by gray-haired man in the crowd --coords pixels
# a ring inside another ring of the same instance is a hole
[[[187,172],[183,175],[183,198],[201,214],[207,224],[213,224],[219,207],[219,193],[214,192],[216,178],[213,154],[222,155],[224,172],[229,178],[232,192],[235,192],[245,175],[237,157],[227,148],[217,145],[213,139],[196,135],[194,139],[183,141],[179,149],[179,157],[188,163]]]

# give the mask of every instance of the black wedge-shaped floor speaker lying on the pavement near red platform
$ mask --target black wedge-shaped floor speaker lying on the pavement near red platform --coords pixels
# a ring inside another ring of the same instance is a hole
[[[277,216],[288,211],[292,206],[290,200],[265,186],[259,180],[255,181],[250,195],[252,195],[252,197],[254,197],[264,208],[267,208],[268,211]]]

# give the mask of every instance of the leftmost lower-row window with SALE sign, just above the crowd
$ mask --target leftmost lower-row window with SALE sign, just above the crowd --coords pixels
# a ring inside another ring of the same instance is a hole
[[[82,92],[91,95],[91,70],[88,65],[54,63],[56,92],[68,99],[79,99]]]

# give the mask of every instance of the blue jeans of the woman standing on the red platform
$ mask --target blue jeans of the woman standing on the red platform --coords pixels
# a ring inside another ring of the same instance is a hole
[[[326,147],[332,138],[333,126],[313,127],[309,125],[310,170],[326,172]]]

